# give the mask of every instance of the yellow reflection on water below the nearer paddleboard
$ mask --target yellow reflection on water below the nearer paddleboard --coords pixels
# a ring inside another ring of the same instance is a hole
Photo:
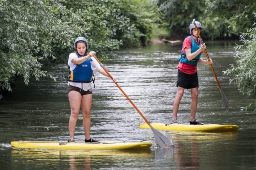
[[[80,151],[80,150],[38,150],[13,149],[12,165],[30,162],[45,169],[56,169],[59,164],[69,170],[111,169],[110,166],[129,164],[134,159],[141,161],[151,157],[150,150],[140,151]],[[50,162],[50,164],[48,164]],[[48,164],[48,165],[47,165]],[[68,168],[69,167],[69,168]],[[15,167],[13,167],[15,168]]]

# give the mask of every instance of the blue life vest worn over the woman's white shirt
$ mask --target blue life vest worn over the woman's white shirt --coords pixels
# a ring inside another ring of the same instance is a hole
[[[78,55],[78,58],[81,56]],[[80,65],[76,65],[75,69],[70,71],[69,81],[89,83],[93,81],[93,73],[91,67],[92,59],[88,59]]]

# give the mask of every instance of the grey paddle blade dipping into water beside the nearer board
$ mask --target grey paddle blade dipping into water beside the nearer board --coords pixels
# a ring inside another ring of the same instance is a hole
[[[153,131],[157,146],[159,146],[160,148],[167,148],[167,147],[171,147],[173,145],[172,142],[165,135],[163,135],[162,133],[157,131],[151,125],[149,125],[149,126],[150,126],[151,130]]]

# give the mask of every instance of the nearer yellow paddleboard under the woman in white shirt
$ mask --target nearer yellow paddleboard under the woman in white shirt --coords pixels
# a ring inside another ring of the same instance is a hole
[[[85,141],[68,143],[63,141],[13,141],[15,148],[29,149],[60,149],[60,150],[125,150],[125,149],[147,149],[152,144],[149,142],[108,142],[100,144],[85,144]]]

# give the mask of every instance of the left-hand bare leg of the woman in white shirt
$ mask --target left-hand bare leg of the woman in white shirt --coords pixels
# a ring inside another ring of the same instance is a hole
[[[69,131],[70,139],[74,139],[75,127],[77,118],[79,116],[79,110],[81,105],[81,94],[79,92],[71,91],[69,92],[69,101],[71,107],[71,115],[69,120]]]

